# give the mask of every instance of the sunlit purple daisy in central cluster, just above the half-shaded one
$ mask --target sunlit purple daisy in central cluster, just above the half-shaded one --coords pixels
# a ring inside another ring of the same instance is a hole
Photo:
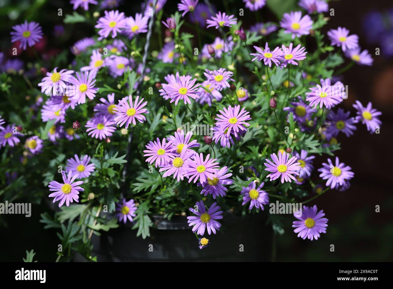
[[[189,178],[188,182],[191,182],[194,180],[194,184],[198,181],[201,184],[206,182],[207,178],[213,179],[214,175],[213,173],[217,173],[219,169],[219,163],[215,162],[217,158],[210,159],[210,155],[208,154],[205,158],[203,159],[202,153],[200,155],[195,154],[193,156],[193,160],[188,160],[187,161],[187,166],[188,168],[184,168],[184,176]]]

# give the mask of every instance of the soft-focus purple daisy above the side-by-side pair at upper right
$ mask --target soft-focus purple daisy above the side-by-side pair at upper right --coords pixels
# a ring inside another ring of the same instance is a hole
[[[312,28],[312,20],[309,15],[301,17],[300,11],[291,11],[284,13],[280,26],[285,29],[286,33],[292,33],[292,39],[301,37],[301,35],[309,35]]]

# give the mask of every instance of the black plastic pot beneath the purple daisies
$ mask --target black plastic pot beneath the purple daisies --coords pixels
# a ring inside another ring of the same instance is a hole
[[[136,237],[132,224],[102,232],[92,237],[92,255],[98,261],[270,261],[272,229],[266,226],[266,214],[246,217],[224,215],[217,234],[207,248],[199,249],[198,239],[187,224],[187,217],[175,216],[170,221],[154,217],[157,228],[150,237]],[[152,246],[151,246],[152,245]],[[150,249],[149,251],[149,248]],[[241,250],[242,248],[242,250]],[[75,261],[84,261],[76,256]]]

